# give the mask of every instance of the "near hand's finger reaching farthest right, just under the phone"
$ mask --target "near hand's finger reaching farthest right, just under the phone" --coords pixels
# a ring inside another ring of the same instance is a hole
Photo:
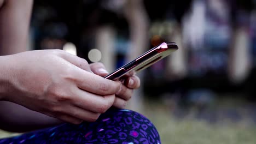
[[[104,79],[101,76],[89,73],[88,71],[75,71],[74,81],[77,87],[95,94],[109,95],[117,93],[121,83]]]

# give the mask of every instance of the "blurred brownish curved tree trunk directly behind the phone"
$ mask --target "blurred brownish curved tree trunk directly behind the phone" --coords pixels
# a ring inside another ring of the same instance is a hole
[[[125,17],[129,24],[131,47],[127,53],[127,60],[138,57],[148,48],[148,15],[142,0],[127,1],[124,9]],[[138,74],[141,78],[141,88],[135,91],[128,108],[138,112],[143,112],[143,72]]]

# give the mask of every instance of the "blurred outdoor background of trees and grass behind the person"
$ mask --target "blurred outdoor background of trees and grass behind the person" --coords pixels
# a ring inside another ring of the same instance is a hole
[[[138,74],[128,108],[162,143],[256,143],[255,0],[34,1],[30,30],[30,50],[63,49],[109,72],[174,41],[178,51]]]

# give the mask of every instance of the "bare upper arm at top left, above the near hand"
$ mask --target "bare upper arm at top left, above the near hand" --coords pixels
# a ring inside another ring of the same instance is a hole
[[[0,54],[27,50],[32,0],[0,0]]]

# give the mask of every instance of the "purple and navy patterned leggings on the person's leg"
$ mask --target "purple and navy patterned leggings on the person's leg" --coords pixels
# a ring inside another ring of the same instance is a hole
[[[143,115],[121,109],[110,109],[96,122],[79,125],[61,124],[21,136],[0,139],[0,144],[15,143],[161,143],[154,125]]]

